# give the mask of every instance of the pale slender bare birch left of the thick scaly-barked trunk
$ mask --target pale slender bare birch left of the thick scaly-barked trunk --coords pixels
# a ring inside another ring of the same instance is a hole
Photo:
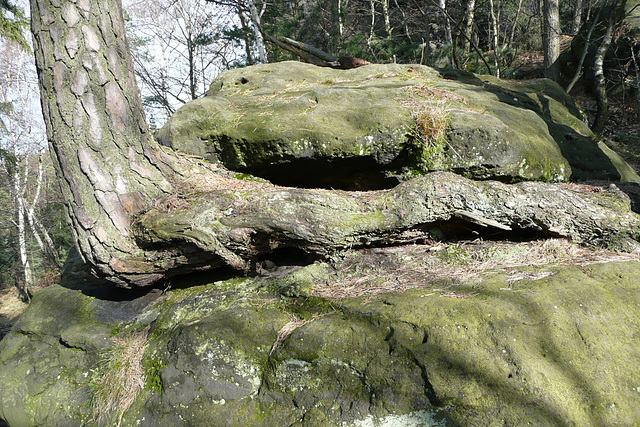
[[[15,250],[22,266],[22,280],[16,285],[29,299],[35,284],[29,239],[36,242],[45,258],[56,266],[60,264],[53,240],[38,216],[45,185],[44,123],[34,102],[38,87],[31,55],[17,43],[3,42],[1,56],[0,176],[9,195],[10,223],[15,227]]]

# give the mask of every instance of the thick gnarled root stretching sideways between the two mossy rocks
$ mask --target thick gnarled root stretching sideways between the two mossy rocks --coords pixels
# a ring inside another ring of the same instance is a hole
[[[513,237],[536,231],[623,250],[640,240],[640,218],[614,184],[504,184],[435,172],[370,192],[277,187],[222,175],[207,185],[137,218],[133,232],[146,252],[112,259],[121,278],[149,285],[223,266],[248,271],[278,249],[325,257],[345,248],[436,238],[451,224]]]

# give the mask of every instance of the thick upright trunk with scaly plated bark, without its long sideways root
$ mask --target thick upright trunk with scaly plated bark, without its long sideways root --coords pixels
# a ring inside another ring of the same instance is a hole
[[[127,286],[118,272],[143,256],[131,220],[172,186],[145,123],[120,1],[31,0],[31,17],[45,124],[76,246],[97,274]]]

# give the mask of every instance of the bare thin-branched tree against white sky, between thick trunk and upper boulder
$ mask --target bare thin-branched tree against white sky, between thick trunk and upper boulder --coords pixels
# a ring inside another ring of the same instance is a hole
[[[150,119],[160,124],[202,96],[218,73],[239,60],[239,46],[223,34],[236,18],[228,6],[129,0],[125,7],[143,101]]]

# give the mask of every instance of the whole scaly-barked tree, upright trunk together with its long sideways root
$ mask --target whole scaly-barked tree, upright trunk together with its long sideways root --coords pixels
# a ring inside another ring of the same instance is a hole
[[[319,256],[402,243],[409,230],[470,221],[576,241],[635,245],[616,200],[551,184],[439,172],[365,194],[242,181],[161,148],[144,120],[119,0],[31,0],[43,113],[75,243],[124,287],[228,266],[278,248]],[[239,191],[242,190],[242,191]]]

